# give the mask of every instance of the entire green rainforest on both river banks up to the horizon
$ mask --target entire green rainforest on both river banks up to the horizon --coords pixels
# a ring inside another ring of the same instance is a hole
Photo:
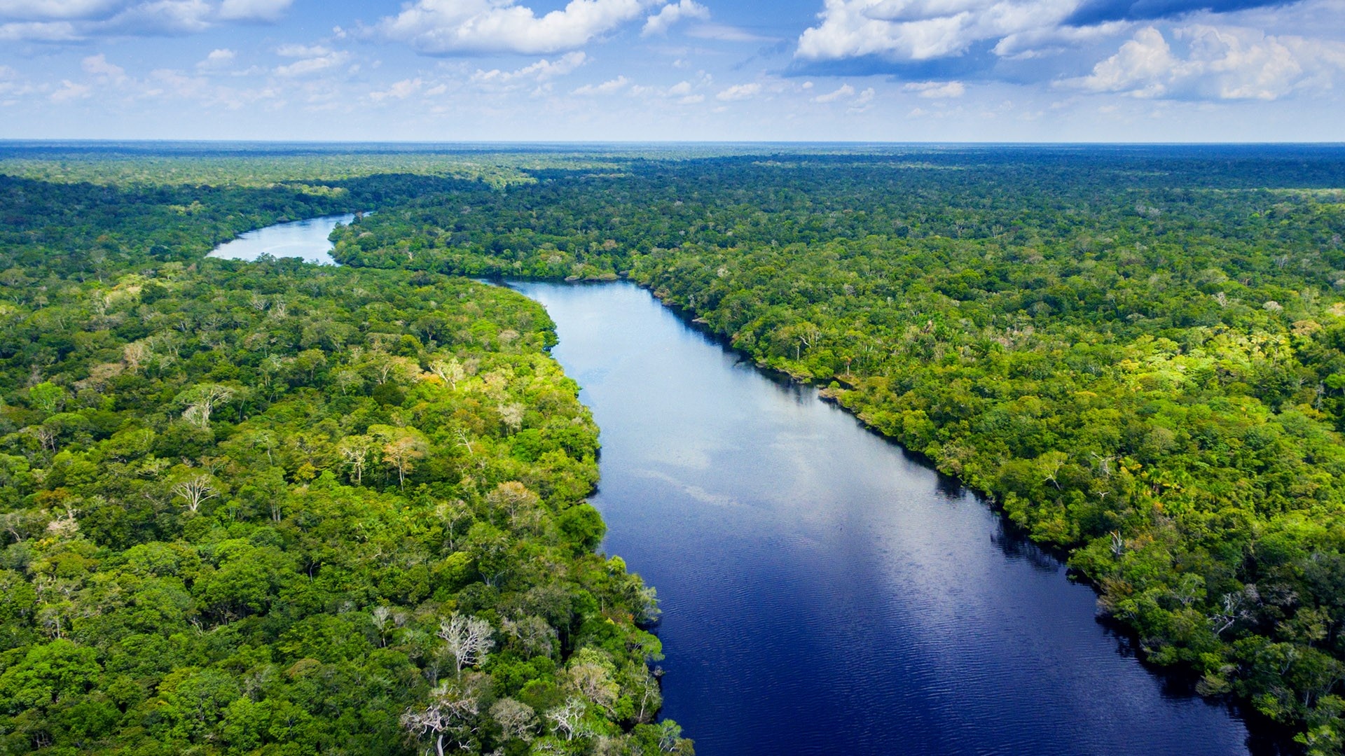
[[[1342,234],[1340,147],[4,143],[0,749],[691,752],[510,278],[648,289],[1338,753]]]

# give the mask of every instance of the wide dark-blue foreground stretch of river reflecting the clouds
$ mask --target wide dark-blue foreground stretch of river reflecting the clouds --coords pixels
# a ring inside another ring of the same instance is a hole
[[[511,285],[601,428],[604,547],[658,588],[663,714],[701,756],[1250,752],[1057,561],[812,389],[633,285]]]

